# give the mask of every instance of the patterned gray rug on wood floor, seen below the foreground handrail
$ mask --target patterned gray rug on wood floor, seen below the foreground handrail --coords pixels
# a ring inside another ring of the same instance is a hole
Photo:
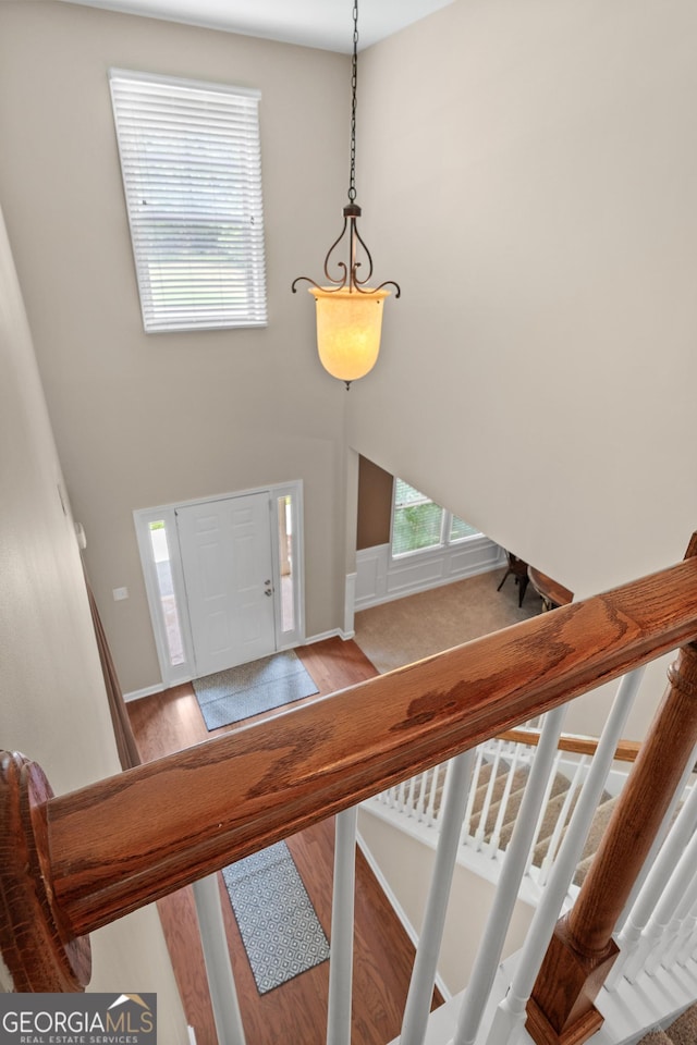
[[[259,994],[329,958],[329,943],[284,841],[223,868]]]

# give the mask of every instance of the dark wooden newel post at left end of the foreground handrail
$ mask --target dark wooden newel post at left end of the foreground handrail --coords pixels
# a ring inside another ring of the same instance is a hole
[[[88,937],[61,926],[48,856],[46,811],[51,787],[35,763],[3,752],[0,760],[0,954],[12,989],[84,991]]]

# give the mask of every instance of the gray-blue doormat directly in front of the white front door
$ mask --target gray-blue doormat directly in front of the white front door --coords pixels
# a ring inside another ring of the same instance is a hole
[[[319,692],[293,650],[205,675],[193,686],[209,730]]]

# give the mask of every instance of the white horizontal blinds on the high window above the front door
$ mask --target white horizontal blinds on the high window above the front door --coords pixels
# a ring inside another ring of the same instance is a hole
[[[259,93],[109,79],[145,330],[265,325]]]

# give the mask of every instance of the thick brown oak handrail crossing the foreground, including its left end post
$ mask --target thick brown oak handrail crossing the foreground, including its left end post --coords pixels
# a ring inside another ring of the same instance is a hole
[[[8,757],[0,827],[28,857],[0,868],[5,962],[17,933],[70,944],[695,636],[687,560],[70,795]]]

